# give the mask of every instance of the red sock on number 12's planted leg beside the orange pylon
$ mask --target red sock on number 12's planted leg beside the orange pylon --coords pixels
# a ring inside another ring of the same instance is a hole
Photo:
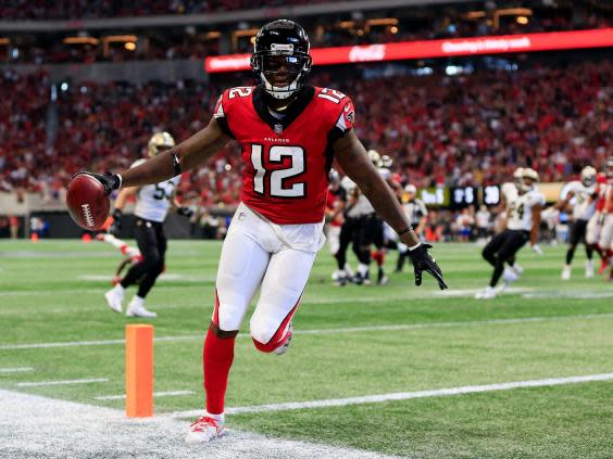
[[[228,374],[234,360],[235,337],[218,337],[212,327],[207,332],[202,364],[204,366],[204,391],[207,392],[207,411],[210,415],[224,412],[224,400]]]

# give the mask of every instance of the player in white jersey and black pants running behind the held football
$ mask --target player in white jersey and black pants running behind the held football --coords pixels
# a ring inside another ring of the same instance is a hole
[[[150,157],[155,157],[161,152],[175,146],[175,140],[168,132],[157,132],[148,144]],[[136,161],[132,167],[139,166],[146,160]],[[104,294],[109,307],[115,313],[122,313],[125,291],[138,282],[138,291],[132,298],[126,309],[128,317],[157,317],[155,313],[145,307],[145,298],[158,277],[164,270],[166,254],[166,234],[164,220],[173,203],[182,215],[189,216],[191,211],[180,207],[175,201],[175,190],[180,177],[176,176],[155,184],[124,188],[115,200],[113,211],[113,225],[110,233],[118,235],[122,229],[123,209],[128,196],[136,194],[136,208],[134,215],[135,238],[141,254],[141,259],[132,265],[126,276],[113,289]]]

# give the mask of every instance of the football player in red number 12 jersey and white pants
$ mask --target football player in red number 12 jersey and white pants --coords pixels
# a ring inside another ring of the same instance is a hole
[[[250,320],[255,347],[283,354],[323,227],[328,170],[333,161],[368,197],[410,247],[415,282],[424,271],[447,285],[385,180],[358,139],[349,97],[305,84],[310,43],[292,21],[274,21],[255,37],[251,67],[258,84],[227,89],[208,126],[146,163],[110,176],[95,175],[108,192],[176,177],[211,160],[235,139],[246,163],[241,203],[223,243],[211,326],[204,340],[207,411],[191,424],[189,444],[223,435],[224,399],[235,340],[251,298],[260,299]]]

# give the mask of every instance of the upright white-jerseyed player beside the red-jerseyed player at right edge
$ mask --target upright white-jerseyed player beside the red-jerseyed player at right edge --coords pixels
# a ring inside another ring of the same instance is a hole
[[[579,242],[583,242],[586,246],[586,278],[593,278],[593,248],[586,243],[586,229],[596,211],[596,169],[591,166],[584,167],[581,180],[570,182],[563,193],[555,207],[564,211],[572,206],[573,224],[571,226],[568,251],[566,252],[566,264],[562,269],[562,279],[571,279],[571,263]]]

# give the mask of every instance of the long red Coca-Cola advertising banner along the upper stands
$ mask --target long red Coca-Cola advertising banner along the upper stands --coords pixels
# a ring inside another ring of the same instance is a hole
[[[603,47],[613,47],[613,28],[313,48],[311,55],[314,65],[331,65]],[[207,58],[204,68],[209,73],[247,71],[250,68],[250,56],[251,54],[228,54]]]

